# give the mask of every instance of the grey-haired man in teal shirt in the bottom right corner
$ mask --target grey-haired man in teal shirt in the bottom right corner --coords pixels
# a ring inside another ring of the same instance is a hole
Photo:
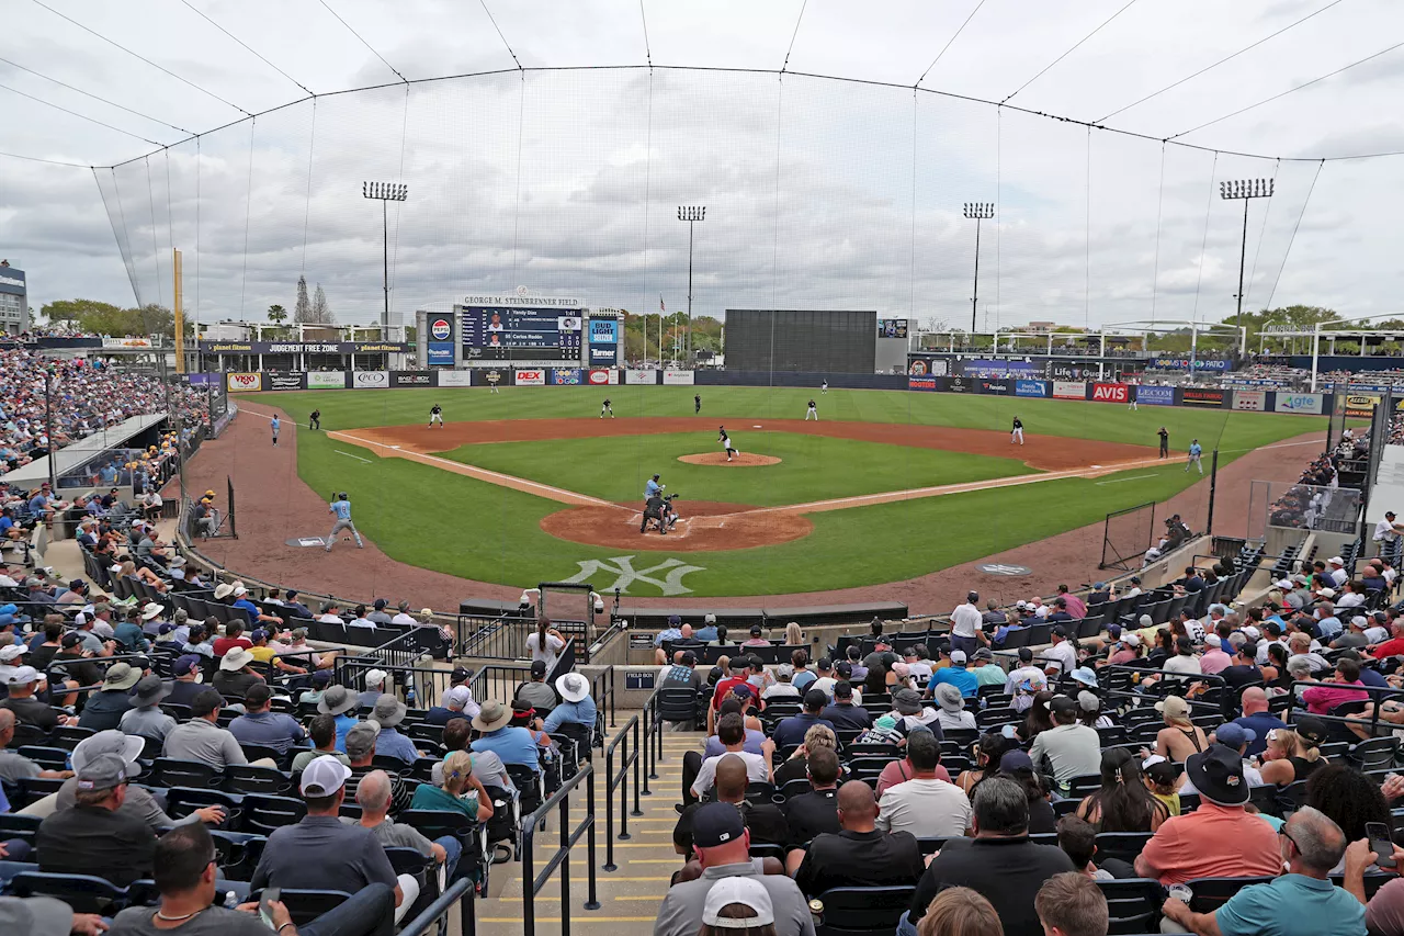
[[[1318,810],[1303,807],[1282,826],[1278,840],[1287,860],[1287,873],[1271,884],[1240,890],[1213,914],[1195,914],[1174,897],[1165,901],[1163,912],[1193,933],[1365,936],[1365,904],[1331,883],[1331,871],[1345,856],[1346,840],[1341,826]],[[1351,870],[1359,874],[1363,866]],[[1346,871],[1348,883],[1349,877],[1351,871]],[[1359,877],[1356,884],[1363,891]]]

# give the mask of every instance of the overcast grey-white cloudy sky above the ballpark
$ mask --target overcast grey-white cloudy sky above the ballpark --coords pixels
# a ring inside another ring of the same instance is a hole
[[[1262,177],[1248,306],[1400,311],[1404,156],[1335,157],[1404,150],[1404,48],[1292,91],[1404,41],[1389,0],[13,0],[6,34],[0,256],[34,306],[170,304],[174,246],[202,322],[299,274],[373,320],[385,180],[406,318],[517,285],[685,308],[698,204],[696,312],[967,325],[986,201],[981,329],[1220,319],[1217,183]]]

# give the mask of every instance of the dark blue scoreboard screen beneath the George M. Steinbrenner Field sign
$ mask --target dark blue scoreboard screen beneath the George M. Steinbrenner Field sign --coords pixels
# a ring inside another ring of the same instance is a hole
[[[578,301],[550,297],[469,298],[486,301],[456,306],[465,358],[580,360],[584,311],[578,308]]]

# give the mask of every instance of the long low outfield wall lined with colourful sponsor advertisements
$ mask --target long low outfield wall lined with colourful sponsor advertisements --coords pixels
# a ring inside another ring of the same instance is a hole
[[[462,371],[230,371],[192,374],[191,384],[223,384],[232,394],[302,389],[395,389],[410,386],[809,386],[906,389],[918,394],[979,394],[1024,399],[1073,399],[1129,406],[1192,406],[1321,416],[1334,394],[1272,389],[1151,386],[1109,381],[908,377],[904,374],[804,374],[767,371],[667,371],[581,367],[473,368]],[[1352,398],[1356,399],[1356,398]],[[1359,398],[1363,399],[1363,398]]]

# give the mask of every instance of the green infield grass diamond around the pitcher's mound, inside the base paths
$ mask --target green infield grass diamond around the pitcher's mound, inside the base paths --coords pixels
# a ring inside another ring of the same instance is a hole
[[[680,462],[680,455],[717,451],[716,440],[708,433],[489,443],[463,446],[444,457],[616,503],[642,500],[644,482],[658,472],[668,492],[682,496],[684,510],[687,500],[772,507],[1033,471],[1015,458],[935,448],[797,433],[747,431],[744,436],[747,453],[774,455],[781,464],[717,468]]]

